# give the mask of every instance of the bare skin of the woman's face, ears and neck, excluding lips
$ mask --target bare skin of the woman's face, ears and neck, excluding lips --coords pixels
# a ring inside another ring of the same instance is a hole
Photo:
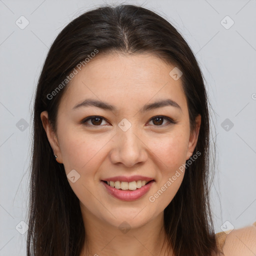
[[[80,200],[88,241],[89,252],[86,253],[84,245],[80,256],[167,255],[163,210],[176,194],[184,172],[179,171],[176,180],[154,202],[149,201],[149,196],[189,159],[201,123],[198,115],[196,129],[189,130],[181,79],[174,80],[169,75],[173,67],[150,54],[98,54],[74,76],[64,92],[56,133],[49,125],[47,112],[41,113],[58,162],[63,163],[66,174],[72,169],[80,174],[74,183],[68,179]],[[106,101],[117,110],[95,106],[72,109],[86,98]],[[174,100],[181,109],[163,106],[139,112],[144,104],[166,98]],[[91,115],[103,117],[101,123],[95,125],[95,120],[88,120],[88,126],[81,123]],[[167,119],[150,120],[159,115],[176,123]],[[131,123],[126,131],[118,127],[123,118]],[[144,175],[155,181],[145,195],[127,202],[108,194],[100,182],[116,175]],[[130,227],[126,233],[118,228],[123,221]]]

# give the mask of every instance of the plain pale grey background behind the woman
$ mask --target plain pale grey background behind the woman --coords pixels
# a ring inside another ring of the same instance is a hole
[[[120,1],[0,0],[0,255],[25,255],[27,232],[20,221],[26,221],[28,207],[32,98],[48,48],[68,22],[102,3]],[[256,221],[256,0],[122,3],[158,12],[195,53],[212,105],[217,149],[211,188],[215,231],[251,225]],[[22,15],[29,22],[23,29]]]

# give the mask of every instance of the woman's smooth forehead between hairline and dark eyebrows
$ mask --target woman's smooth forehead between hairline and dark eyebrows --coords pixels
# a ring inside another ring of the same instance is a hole
[[[71,79],[61,101],[70,108],[88,97],[115,105],[145,104],[168,97],[184,108],[181,79],[169,75],[174,67],[151,54],[98,53]]]

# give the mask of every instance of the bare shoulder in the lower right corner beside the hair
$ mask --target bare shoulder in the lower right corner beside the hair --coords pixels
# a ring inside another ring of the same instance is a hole
[[[216,233],[218,247],[224,256],[256,255],[256,222],[251,226],[233,229],[229,233]]]

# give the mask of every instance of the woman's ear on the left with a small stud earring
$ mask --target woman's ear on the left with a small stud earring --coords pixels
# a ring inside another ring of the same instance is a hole
[[[57,158],[56,158],[57,162],[62,163],[62,155],[61,155],[61,151],[59,148],[58,139],[49,123],[48,112],[42,111],[40,114],[40,117],[41,117],[41,121],[42,121],[42,126],[46,132],[46,135],[49,140],[50,146],[52,148],[53,154],[57,155]],[[54,155],[52,155],[52,157],[54,157]]]

